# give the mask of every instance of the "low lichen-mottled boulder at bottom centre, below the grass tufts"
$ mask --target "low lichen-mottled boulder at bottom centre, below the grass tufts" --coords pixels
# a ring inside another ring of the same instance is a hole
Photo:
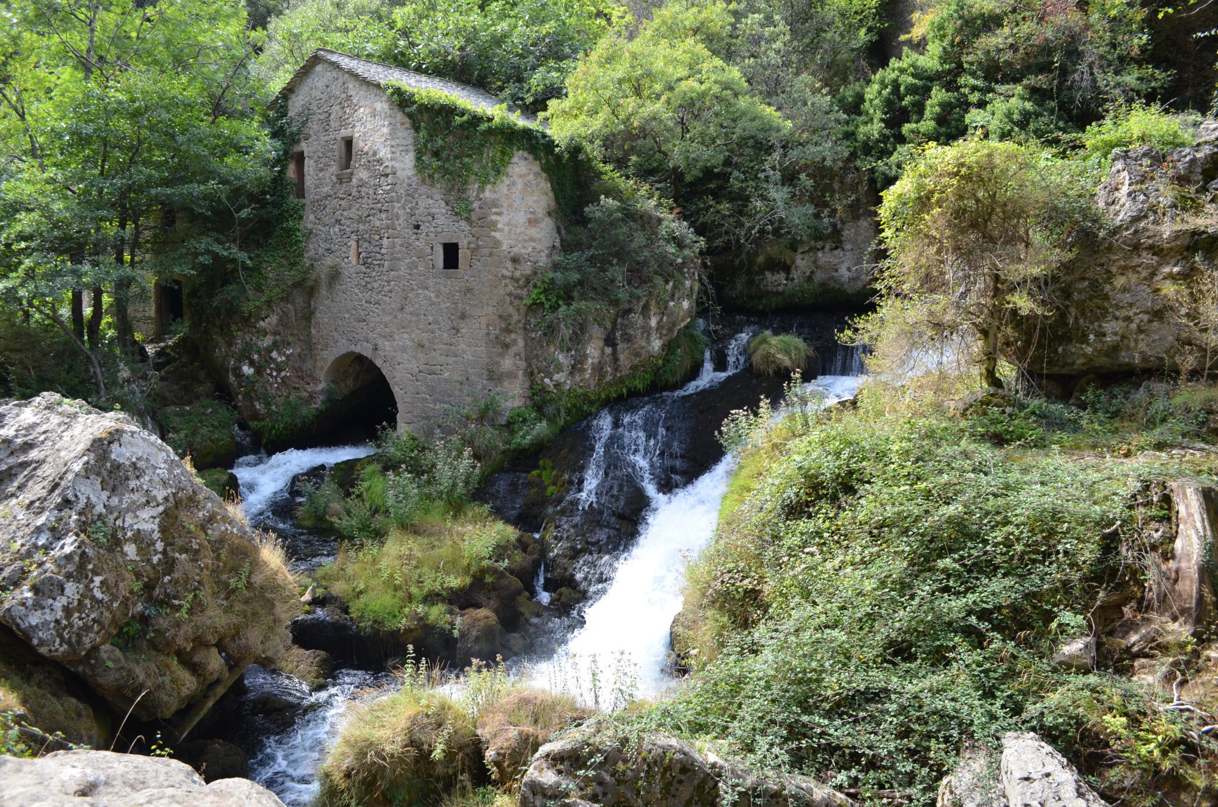
[[[611,736],[596,727],[543,745],[520,785],[520,807],[849,807],[806,777],[759,777],[666,734]]]

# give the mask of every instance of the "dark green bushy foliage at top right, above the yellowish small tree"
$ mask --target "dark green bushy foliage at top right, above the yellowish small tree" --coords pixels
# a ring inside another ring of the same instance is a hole
[[[1128,0],[933,6],[915,28],[924,46],[906,49],[866,89],[855,127],[864,162],[884,185],[921,144],[968,130],[998,139],[1080,132],[1162,84],[1147,63],[1145,13]]]

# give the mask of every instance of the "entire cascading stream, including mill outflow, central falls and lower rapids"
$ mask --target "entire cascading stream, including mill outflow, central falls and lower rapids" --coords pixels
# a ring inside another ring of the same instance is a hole
[[[691,455],[685,443],[697,433],[705,444],[706,429],[717,429],[721,413],[737,406],[730,401],[741,400],[742,393],[756,395],[759,382],[733,378],[747,367],[748,340],[755,332],[750,327],[727,343],[723,369],[715,369],[708,351],[702,372],[683,388],[607,407],[583,427],[588,447],[566,500],[572,510],[618,512],[615,502],[620,502],[626,480],[647,503],[637,531],[627,535],[627,540],[635,536],[630,549],[614,555],[608,547],[604,562],[613,566],[605,568],[607,584],[592,589],[599,596],[585,611],[583,624],[560,642],[553,657],[525,668],[536,685],[613,708],[632,696],[655,695],[671,681],[665,674],[669,629],[681,610],[685,567],[714,536],[734,466],[731,456],[714,461],[715,455],[708,456],[705,450]],[[857,351],[838,349],[826,358],[821,372],[832,374],[809,386],[823,393],[827,402],[851,396],[861,373]],[[736,397],[727,396],[726,386],[716,390],[728,382],[734,384]],[[333,556],[334,539],[311,539],[309,530],[294,523],[292,480],[318,466],[333,467],[370,453],[367,445],[350,445],[242,457],[233,472],[241,483],[247,518],[285,536],[289,553],[301,568],[315,566]],[[302,553],[308,563],[300,563]],[[535,599],[542,605],[549,602],[547,567],[542,566],[533,581]],[[251,778],[289,807],[304,807],[315,796],[317,766],[350,705],[384,694],[393,679],[385,673],[339,669],[324,689],[311,694],[290,675],[253,667],[246,681],[246,702],[270,695],[296,703],[294,717],[284,718],[287,723],[259,723]]]

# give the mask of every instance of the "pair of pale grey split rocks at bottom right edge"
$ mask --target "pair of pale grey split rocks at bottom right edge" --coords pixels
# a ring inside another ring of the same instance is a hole
[[[1000,759],[966,747],[935,807],[1107,807],[1078,770],[1035,734],[1009,731]]]

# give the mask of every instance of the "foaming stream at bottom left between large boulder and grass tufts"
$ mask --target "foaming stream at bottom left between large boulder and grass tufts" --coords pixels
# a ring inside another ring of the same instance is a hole
[[[251,695],[295,695],[302,700],[300,717],[281,734],[267,736],[250,761],[250,778],[273,791],[287,807],[306,807],[317,795],[317,767],[337,736],[348,707],[378,697],[379,685],[392,681],[385,673],[341,669],[330,684],[309,694],[308,688],[285,673],[251,667],[246,683]]]

